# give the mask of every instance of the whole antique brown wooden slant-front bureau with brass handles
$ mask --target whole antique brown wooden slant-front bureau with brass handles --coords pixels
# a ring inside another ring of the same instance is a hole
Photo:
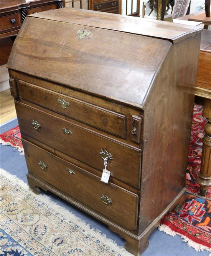
[[[26,17],[8,60],[29,186],[103,221],[135,255],[183,200],[200,38],[63,8]]]

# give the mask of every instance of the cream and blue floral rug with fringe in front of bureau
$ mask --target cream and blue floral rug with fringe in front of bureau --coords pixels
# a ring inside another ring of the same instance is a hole
[[[132,256],[0,169],[0,256]]]

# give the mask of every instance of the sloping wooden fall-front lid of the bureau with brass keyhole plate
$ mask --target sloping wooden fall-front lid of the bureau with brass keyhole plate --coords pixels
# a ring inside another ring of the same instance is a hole
[[[80,39],[79,30],[84,28],[91,34]],[[8,67],[140,106],[171,45],[154,38],[152,47],[151,40],[101,28],[26,17]]]

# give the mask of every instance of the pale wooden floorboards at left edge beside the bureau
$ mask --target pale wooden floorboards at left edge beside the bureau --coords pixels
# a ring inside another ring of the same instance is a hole
[[[10,90],[0,92],[0,125],[16,117],[14,98]]]

